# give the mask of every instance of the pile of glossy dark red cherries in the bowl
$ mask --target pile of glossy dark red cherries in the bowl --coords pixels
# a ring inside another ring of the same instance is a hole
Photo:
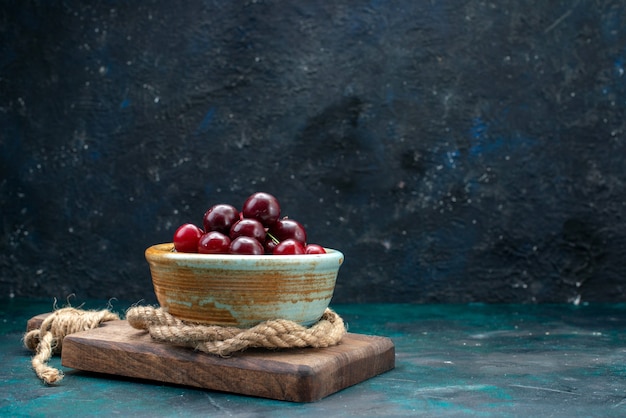
[[[183,224],[174,233],[178,252],[201,254],[324,254],[324,248],[307,244],[306,230],[299,222],[280,217],[278,199],[257,192],[241,211],[228,204],[209,208],[202,219],[204,229]]]

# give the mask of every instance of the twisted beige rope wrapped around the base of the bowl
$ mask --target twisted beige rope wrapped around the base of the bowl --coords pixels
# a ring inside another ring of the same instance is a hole
[[[322,318],[309,328],[285,319],[265,321],[249,329],[187,324],[161,308],[150,306],[130,308],[126,319],[133,328],[147,330],[156,341],[222,357],[253,347],[330,347],[346,334],[343,320],[331,309],[326,309]]]

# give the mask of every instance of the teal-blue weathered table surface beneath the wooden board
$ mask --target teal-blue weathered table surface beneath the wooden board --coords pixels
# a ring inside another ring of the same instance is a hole
[[[74,306],[78,304],[73,303]],[[82,303],[82,302],[80,302]],[[112,301],[122,313],[129,304]],[[86,301],[104,309],[107,301]],[[349,331],[386,336],[396,368],[314,403],[194,389],[51,365],[22,345],[51,300],[0,304],[3,416],[626,416],[626,305],[331,305]]]

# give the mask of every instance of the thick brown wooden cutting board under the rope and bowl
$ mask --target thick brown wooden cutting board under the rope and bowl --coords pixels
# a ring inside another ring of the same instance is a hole
[[[38,328],[49,314],[28,322]],[[229,358],[153,341],[127,321],[65,337],[61,364],[78,370],[203,389],[313,402],[395,367],[386,337],[348,333],[329,348],[250,349]]]

